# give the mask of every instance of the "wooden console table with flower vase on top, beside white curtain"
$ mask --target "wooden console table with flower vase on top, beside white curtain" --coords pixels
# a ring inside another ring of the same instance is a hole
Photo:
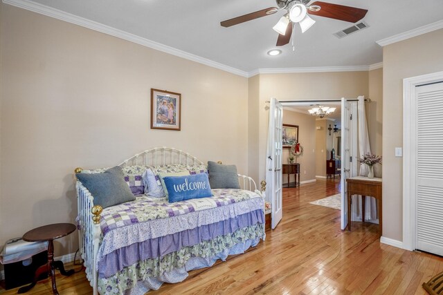
[[[347,229],[351,230],[351,202],[352,195],[361,195],[361,217],[362,222],[365,222],[365,201],[366,196],[371,196],[377,199],[378,213],[379,213],[379,234],[381,236],[383,230],[383,211],[381,198],[381,178],[367,178],[365,176],[356,176],[346,178],[347,182]]]

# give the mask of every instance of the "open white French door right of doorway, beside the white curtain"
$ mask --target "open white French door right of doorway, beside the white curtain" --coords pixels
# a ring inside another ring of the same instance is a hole
[[[357,175],[357,102],[341,99],[341,229],[347,226],[346,178]]]

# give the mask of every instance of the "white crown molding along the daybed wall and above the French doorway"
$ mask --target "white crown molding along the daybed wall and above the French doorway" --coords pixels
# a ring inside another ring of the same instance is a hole
[[[116,28],[112,28],[110,26],[104,25],[102,23],[98,23],[96,21],[91,21],[89,19],[84,19],[83,17],[78,17],[76,15],[72,15],[71,13],[64,12],[62,10],[57,10],[55,8],[51,8],[48,6],[44,6],[40,3],[35,3],[29,0],[2,0],[3,3],[16,6],[18,8],[23,8],[26,10],[30,10],[32,12],[39,13],[40,15],[46,15],[47,17],[53,17],[54,19],[60,19],[61,21],[66,21],[69,23],[73,23],[78,26],[82,26],[84,28],[89,28],[91,30],[96,30],[98,32],[102,32],[107,35],[111,35],[113,37],[117,37],[120,39],[124,39],[126,41],[133,42],[135,44],[139,44],[141,46],[145,46],[148,48],[152,48],[154,50],[159,50],[163,53],[168,53],[170,55],[175,55],[177,57],[181,57],[183,59],[188,59],[190,61],[195,61],[199,64],[204,64],[206,66],[210,66],[213,68],[217,68],[219,70],[224,70],[228,73],[232,73],[235,75],[239,75],[242,77],[253,77],[259,74],[287,74],[287,73],[327,73],[327,72],[361,72],[374,70],[376,68],[381,68],[383,63],[372,64],[370,66],[321,66],[321,67],[307,67],[307,68],[258,68],[256,70],[252,70],[251,72],[246,72],[244,70],[239,70],[237,68],[233,68],[231,66],[226,66],[224,64],[220,64],[217,61],[212,61],[210,59],[206,59],[204,57],[199,57],[197,55],[193,55],[192,53],[187,53],[183,50],[179,50],[177,48],[172,48],[170,46],[165,46],[158,42],[145,39],[142,37],[138,37],[134,34],[130,34],[123,30],[118,30]],[[443,21],[441,22],[443,26]],[[436,30],[436,29],[435,29]]]

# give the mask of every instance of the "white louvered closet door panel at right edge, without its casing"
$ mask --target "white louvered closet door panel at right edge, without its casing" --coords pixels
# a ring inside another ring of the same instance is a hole
[[[417,87],[417,249],[443,256],[443,82]]]

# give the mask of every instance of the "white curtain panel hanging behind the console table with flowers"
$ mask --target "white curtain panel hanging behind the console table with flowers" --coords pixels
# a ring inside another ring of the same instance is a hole
[[[359,96],[358,102],[358,120],[359,120],[359,153],[365,155],[371,153],[371,146],[369,142],[368,124],[366,123],[365,113],[365,97]],[[360,175],[368,175],[368,166],[360,165]],[[351,220],[361,221],[361,196],[352,197],[352,215]],[[377,200],[372,197],[366,197],[365,204],[365,221],[379,223],[377,218]]]

